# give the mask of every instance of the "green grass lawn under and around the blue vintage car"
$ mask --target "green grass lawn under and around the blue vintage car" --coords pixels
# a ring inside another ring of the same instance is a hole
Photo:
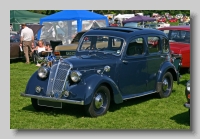
[[[36,112],[30,98],[20,96],[37,70],[34,64],[10,64],[10,128],[11,129],[190,129],[188,109],[183,107],[185,83],[190,74],[183,74],[180,84],[174,82],[170,97],[156,94],[112,103],[106,115],[85,117],[83,107],[66,105],[63,109]]]

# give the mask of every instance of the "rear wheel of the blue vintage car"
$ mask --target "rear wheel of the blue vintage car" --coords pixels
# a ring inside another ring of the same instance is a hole
[[[161,91],[159,95],[161,98],[166,98],[171,95],[173,89],[173,77],[170,72],[166,72],[162,78]]]

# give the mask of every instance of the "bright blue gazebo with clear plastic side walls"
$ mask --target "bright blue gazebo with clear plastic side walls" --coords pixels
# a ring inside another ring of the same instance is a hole
[[[40,19],[44,25],[38,33],[40,39],[62,40],[70,43],[77,32],[108,26],[108,18],[88,10],[63,10]]]

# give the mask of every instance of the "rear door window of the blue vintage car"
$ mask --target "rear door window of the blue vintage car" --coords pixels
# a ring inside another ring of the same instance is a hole
[[[148,50],[149,53],[157,53],[160,51],[160,39],[159,37],[149,36],[148,37]]]

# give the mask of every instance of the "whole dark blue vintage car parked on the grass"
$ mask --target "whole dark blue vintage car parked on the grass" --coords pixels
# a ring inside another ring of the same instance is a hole
[[[89,116],[97,117],[111,101],[152,93],[169,97],[173,81],[179,81],[179,72],[162,31],[104,27],[86,32],[75,56],[40,67],[21,96],[31,98],[36,110],[70,103],[84,105]]]

